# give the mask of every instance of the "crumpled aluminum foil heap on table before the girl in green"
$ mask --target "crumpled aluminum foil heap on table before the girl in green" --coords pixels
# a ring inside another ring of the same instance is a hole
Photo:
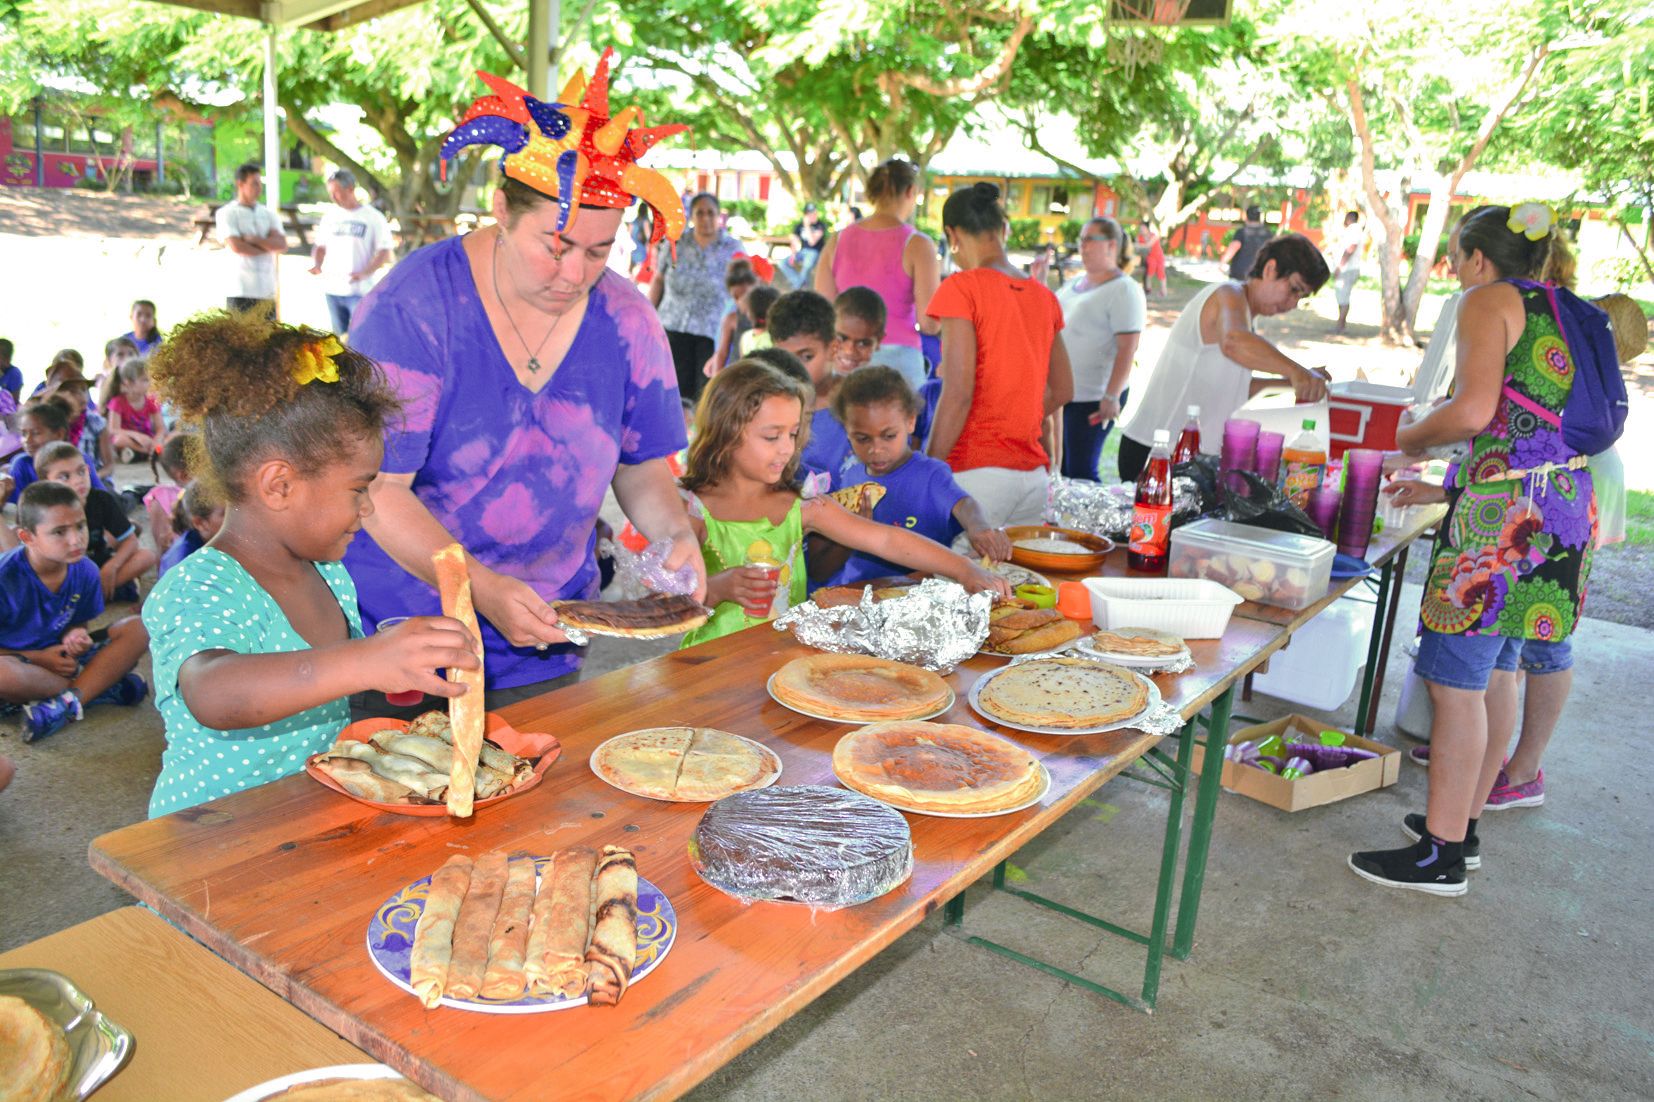
[[[870,654],[951,673],[987,639],[992,606],[992,594],[973,594],[956,581],[926,577],[888,601],[873,601],[872,586],[862,591],[862,604],[822,609],[805,601],[774,624],[776,630],[791,627],[794,639],[817,650]]]

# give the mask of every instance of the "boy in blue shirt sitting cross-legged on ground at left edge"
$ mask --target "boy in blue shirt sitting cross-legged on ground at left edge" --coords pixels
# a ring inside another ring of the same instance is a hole
[[[73,490],[36,482],[17,506],[23,546],[0,556],[0,702],[23,707],[23,741],[46,738],[88,707],[132,707],[149,692],[132,672],[149,647],[136,616],[96,632],[98,568],[86,561],[86,511]]]

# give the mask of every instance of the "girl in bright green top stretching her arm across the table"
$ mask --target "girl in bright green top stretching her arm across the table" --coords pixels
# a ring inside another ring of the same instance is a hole
[[[815,298],[820,298],[819,295]],[[822,299],[825,303],[825,299]],[[769,364],[743,359],[701,394],[690,443],[690,523],[706,558],[706,604],[713,617],[683,637],[685,647],[761,624],[804,601],[804,536],[943,574],[968,589],[1011,596],[1002,577],[964,556],[893,525],[845,511],[832,498],[799,491],[799,437],[810,392]],[[751,566],[766,559],[774,566]]]

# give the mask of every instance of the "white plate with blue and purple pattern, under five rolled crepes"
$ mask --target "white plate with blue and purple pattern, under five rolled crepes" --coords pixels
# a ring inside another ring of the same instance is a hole
[[[551,864],[551,857],[531,857],[529,860],[534,862],[536,877],[544,875],[546,865]],[[409,960],[414,955],[414,927],[418,925],[418,917],[425,913],[425,897],[428,894],[430,877],[415,880],[380,903],[367,923],[367,955],[372,958],[374,966],[385,975],[385,980],[409,994],[414,994],[414,985],[409,983]],[[632,968],[632,983],[655,971],[660,961],[667,958],[667,953],[672,951],[672,943],[676,938],[678,912],[673,910],[672,900],[653,884],[638,877],[637,963]],[[524,994],[518,999],[490,999],[480,994],[475,999],[450,999],[447,996],[442,999],[442,1006],[483,1011],[486,1014],[539,1014],[584,1004],[584,994],[572,999],[559,994]]]

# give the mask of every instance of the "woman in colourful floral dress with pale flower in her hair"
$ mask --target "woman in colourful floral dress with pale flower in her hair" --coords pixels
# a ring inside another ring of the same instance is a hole
[[[1551,299],[1570,261],[1537,204],[1482,207],[1459,223],[1454,394],[1403,425],[1404,452],[1469,440],[1447,470],[1449,515],[1431,551],[1414,665],[1429,683],[1431,791],[1409,814],[1413,846],[1353,854],[1350,867],[1389,887],[1462,895],[1480,860],[1477,816],[1517,716],[1517,665],[1571,665],[1596,544],[1596,496],[1585,457],[1563,443],[1561,409],[1575,352]]]

